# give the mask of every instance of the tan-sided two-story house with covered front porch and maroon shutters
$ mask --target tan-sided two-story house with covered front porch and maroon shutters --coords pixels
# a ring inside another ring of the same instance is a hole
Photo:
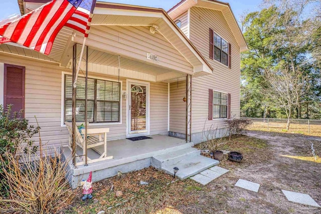
[[[18,1],[22,15],[47,2]],[[66,157],[72,153],[65,124],[72,119],[72,72],[80,63],[75,109],[83,122],[87,69],[88,127],[107,130],[111,159],[99,159],[101,148],[78,148],[78,164],[70,165],[74,187],[91,170],[95,181],[157,165],[155,156],[197,155],[191,147],[205,140],[207,128],[214,124],[223,135],[224,121],[239,117],[240,52],[247,45],[227,3],[184,0],[165,12],[97,2],[80,62],[82,42],[83,35],[64,27],[48,56],[0,45],[0,104],[24,109],[32,125],[36,116],[44,147],[61,148]],[[125,139],[141,136],[151,139]],[[85,153],[97,161],[84,165]]]

